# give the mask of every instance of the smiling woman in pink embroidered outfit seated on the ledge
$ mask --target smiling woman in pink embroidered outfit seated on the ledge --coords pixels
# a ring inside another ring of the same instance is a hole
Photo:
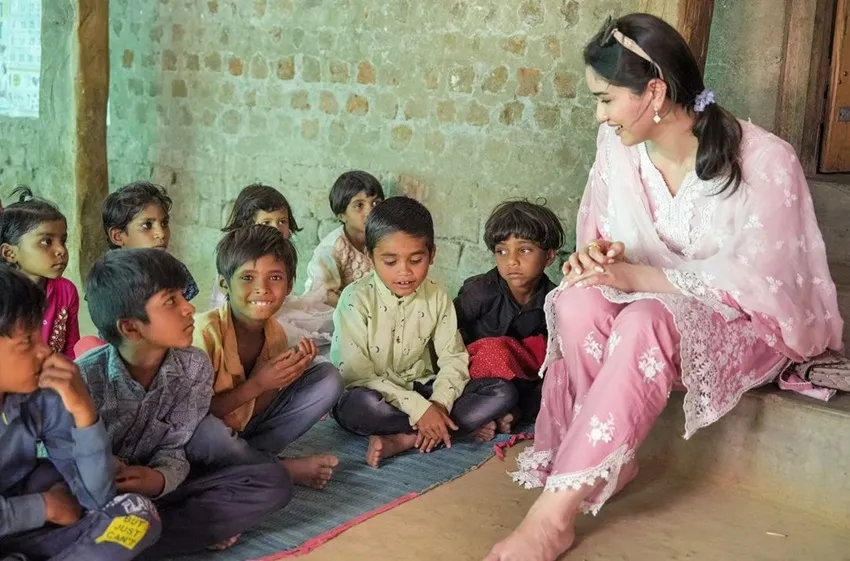
[[[516,481],[544,492],[486,561],[552,561],[579,512],[637,473],[674,388],[685,437],[789,361],[842,348],[793,148],[736,120],[664,21],[606,22],[584,50],[601,126],[577,253],[549,294],[543,403]]]

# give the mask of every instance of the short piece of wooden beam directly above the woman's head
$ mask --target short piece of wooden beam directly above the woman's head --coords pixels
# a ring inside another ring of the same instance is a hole
[[[700,72],[705,69],[714,0],[641,0],[640,10],[674,26],[687,41]]]

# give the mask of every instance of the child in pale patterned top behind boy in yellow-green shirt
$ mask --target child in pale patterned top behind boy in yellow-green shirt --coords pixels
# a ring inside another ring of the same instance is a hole
[[[336,307],[342,290],[372,270],[366,256],[366,218],[384,199],[381,183],[365,171],[347,171],[337,178],[328,197],[342,226],[325,236],[310,264],[304,295],[318,295]]]

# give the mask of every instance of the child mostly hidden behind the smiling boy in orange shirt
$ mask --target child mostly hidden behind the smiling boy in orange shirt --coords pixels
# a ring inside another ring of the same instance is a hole
[[[287,240],[301,231],[286,197],[274,187],[259,183],[248,185],[240,191],[227,225],[222,231],[232,232],[252,224],[277,228],[280,235]],[[213,284],[210,303],[213,308],[224,304],[224,292],[219,288],[218,279]],[[283,326],[290,341],[309,337],[319,345],[328,345],[331,342],[333,308],[325,304],[320,295],[313,298],[288,297],[277,313],[277,321]]]

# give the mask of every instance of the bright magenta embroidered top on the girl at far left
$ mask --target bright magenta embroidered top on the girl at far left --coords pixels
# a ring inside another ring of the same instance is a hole
[[[80,297],[77,287],[63,277],[47,279],[45,294],[47,308],[41,325],[44,342],[50,345],[54,352],[73,359],[74,345],[80,339],[80,324],[77,319]]]

